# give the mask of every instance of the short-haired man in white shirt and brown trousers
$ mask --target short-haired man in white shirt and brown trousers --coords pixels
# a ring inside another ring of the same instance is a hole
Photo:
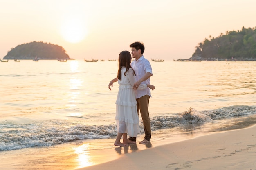
[[[149,98],[151,97],[150,89],[137,90],[141,83],[150,84],[150,77],[153,75],[152,68],[147,59],[144,58],[143,53],[145,50],[144,44],[141,42],[134,42],[130,44],[132,48],[132,57],[135,59],[132,61],[131,66],[135,70],[135,82],[133,89],[135,90],[136,101],[137,101],[137,111],[141,114],[145,137],[144,140],[139,142],[140,144],[145,144],[150,142],[151,139],[151,124],[148,112]],[[117,82],[118,79],[114,78],[108,84],[108,88],[111,90],[110,86],[113,87],[113,83]],[[137,91],[136,91],[137,90]],[[136,137],[129,137],[129,140],[136,141]]]

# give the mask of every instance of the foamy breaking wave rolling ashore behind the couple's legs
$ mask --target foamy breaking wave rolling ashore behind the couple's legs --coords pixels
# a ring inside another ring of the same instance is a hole
[[[253,106],[231,106],[214,110],[188,111],[171,116],[151,118],[151,129],[172,128],[183,124],[198,124],[229,119],[256,113]],[[67,120],[66,120],[67,121]],[[65,142],[83,139],[104,139],[117,135],[115,124],[84,125],[72,124],[65,120],[52,120],[29,124],[0,124],[0,150],[16,150],[33,146],[53,146]],[[144,133],[140,122],[141,133]]]

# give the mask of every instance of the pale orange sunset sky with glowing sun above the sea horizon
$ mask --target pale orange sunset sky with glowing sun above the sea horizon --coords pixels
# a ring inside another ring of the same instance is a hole
[[[148,59],[188,59],[209,35],[256,26],[255,0],[0,0],[0,58],[32,41],[73,59],[117,59],[141,41]]]

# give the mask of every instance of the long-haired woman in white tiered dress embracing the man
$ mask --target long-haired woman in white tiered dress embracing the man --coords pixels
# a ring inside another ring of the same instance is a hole
[[[137,102],[135,99],[135,91],[133,85],[136,82],[135,72],[132,69],[130,63],[132,57],[130,52],[122,51],[119,54],[118,59],[118,72],[117,79],[119,84],[119,91],[116,101],[116,121],[117,121],[117,139],[115,140],[115,146],[126,146],[127,144],[134,144],[136,142],[127,139],[127,133],[131,137],[137,137],[140,133],[139,129],[139,117],[137,112]],[[150,84],[139,85],[138,90],[155,89],[155,86]],[[110,85],[109,85],[110,88]],[[111,90],[111,89],[110,89]],[[123,143],[120,142],[123,136]]]

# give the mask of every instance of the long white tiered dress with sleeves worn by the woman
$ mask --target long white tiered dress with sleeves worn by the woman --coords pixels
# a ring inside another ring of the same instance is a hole
[[[128,133],[131,137],[137,137],[140,133],[137,102],[133,85],[136,82],[133,70],[130,68],[124,76],[126,68],[121,68],[121,80],[118,79],[119,90],[117,94],[116,121],[119,133]],[[146,89],[146,84],[139,85],[138,90]]]

